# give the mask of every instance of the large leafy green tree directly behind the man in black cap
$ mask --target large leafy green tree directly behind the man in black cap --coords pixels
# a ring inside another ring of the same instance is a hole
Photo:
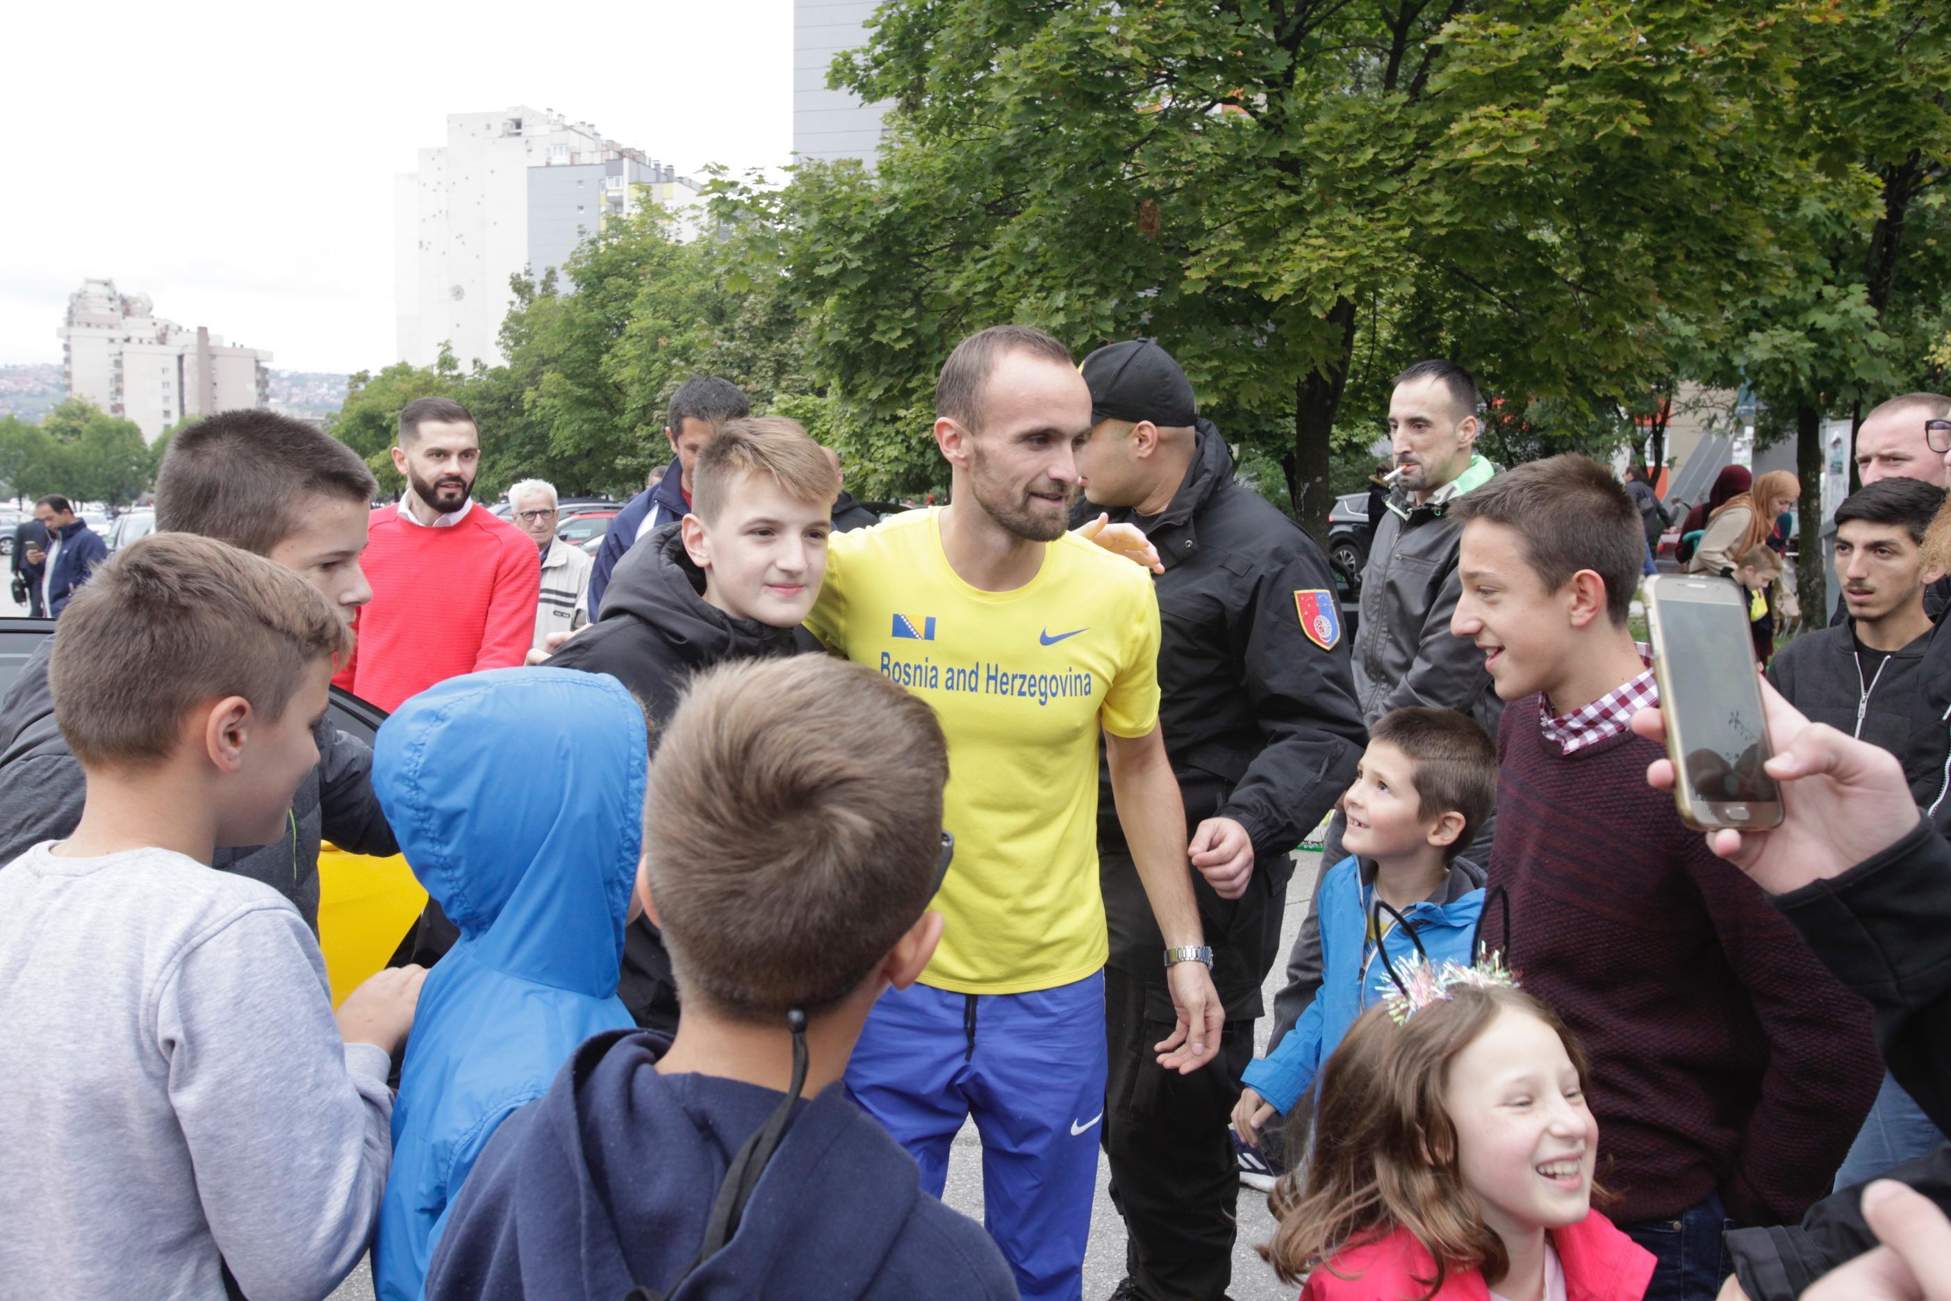
[[[812,371],[870,415],[972,328],[1143,332],[1321,527],[1334,435],[1379,431],[1399,365],[1584,419],[1662,373],[1662,312],[1772,283],[1768,215],[1811,183],[1773,27],[1828,8],[888,0],[833,78],[894,103],[878,170],[745,201]]]

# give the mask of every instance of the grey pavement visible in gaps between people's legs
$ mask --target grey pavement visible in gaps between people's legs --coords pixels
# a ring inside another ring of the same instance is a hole
[[[1294,884],[1288,887],[1288,915],[1282,923],[1282,962],[1274,964],[1276,979],[1268,981],[1266,999],[1272,1005],[1278,985],[1278,971],[1286,966],[1286,948],[1294,942],[1301,919],[1307,915],[1307,901],[1313,897],[1319,852],[1295,856],[1297,868]],[[1266,1045],[1270,1018],[1260,1018],[1256,1038]],[[1110,1168],[1098,1157],[1098,1192],[1091,1207],[1091,1250],[1085,1256],[1085,1301],[1102,1301],[1110,1295],[1118,1280],[1124,1278],[1124,1221],[1110,1203]],[[964,1125],[956,1137],[948,1159],[948,1188],[942,1200],[970,1215],[981,1219],[981,1139],[976,1125]],[[1251,1188],[1239,1190],[1239,1242],[1233,1248],[1233,1301],[1292,1301],[1294,1287],[1282,1285],[1274,1272],[1254,1252],[1254,1244],[1264,1242],[1274,1231],[1274,1219],[1266,1213],[1266,1198]],[[345,1285],[332,1293],[332,1301],[373,1301],[373,1281],[361,1266]]]

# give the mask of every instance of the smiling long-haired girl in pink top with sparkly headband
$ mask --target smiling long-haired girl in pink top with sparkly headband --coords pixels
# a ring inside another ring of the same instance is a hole
[[[1652,1256],[1592,1209],[1578,1044],[1498,966],[1401,975],[1323,1067],[1260,1254],[1301,1301],[1639,1301]]]

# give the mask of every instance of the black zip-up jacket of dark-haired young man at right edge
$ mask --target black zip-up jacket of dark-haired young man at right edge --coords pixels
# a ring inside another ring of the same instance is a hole
[[[1943,831],[1951,829],[1951,800],[1945,798],[1951,728],[1943,720],[1945,706],[1951,706],[1951,681],[1937,683],[1935,690],[1933,681],[1951,675],[1951,634],[1945,634],[1947,646],[1937,646],[1939,634],[1943,628],[1931,628],[1891,653],[1881,669],[1865,673],[1855,657],[1855,622],[1844,620],[1783,646],[1768,665],[1768,681],[1814,722],[1896,755],[1910,798],[1933,821],[1943,819],[1937,821]],[[1939,700],[1935,708],[1931,700]]]

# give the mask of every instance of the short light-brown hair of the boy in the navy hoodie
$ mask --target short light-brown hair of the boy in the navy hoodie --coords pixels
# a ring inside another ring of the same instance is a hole
[[[683,1001],[775,1022],[853,993],[929,905],[946,782],[935,710],[870,669],[792,655],[698,675],[644,800]]]

